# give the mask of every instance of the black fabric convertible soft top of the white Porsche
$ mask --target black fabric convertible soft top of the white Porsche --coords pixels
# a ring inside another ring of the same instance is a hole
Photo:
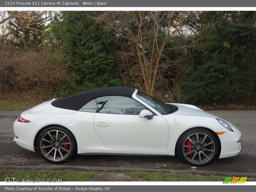
[[[75,95],[63,97],[52,101],[52,106],[78,111],[89,101],[103,96],[124,96],[132,98],[135,88],[132,87],[104,87],[79,92]]]

